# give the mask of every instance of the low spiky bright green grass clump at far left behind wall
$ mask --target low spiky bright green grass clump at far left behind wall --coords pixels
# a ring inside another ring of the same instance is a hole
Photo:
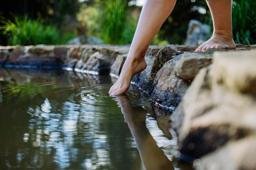
[[[39,20],[27,17],[14,17],[14,23],[0,17],[4,26],[0,27],[2,34],[8,36],[8,45],[53,45],[59,43],[59,33],[53,25],[45,26]]]

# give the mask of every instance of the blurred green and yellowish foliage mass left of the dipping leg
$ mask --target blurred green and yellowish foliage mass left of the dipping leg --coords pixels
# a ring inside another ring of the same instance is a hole
[[[107,10],[105,3],[96,3],[93,6],[82,4],[76,15],[78,22],[88,28],[88,36],[99,37],[108,44],[130,44],[138,23],[139,10],[127,8],[124,2],[124,4],[119,2],[123,10],[118,12],[118,3],[110,4],[110,1]],[[112,6],[116,9],[112,9]],[[119,13],[119,16],[116,13]],[[111,18],[113,16],[114,18]]]

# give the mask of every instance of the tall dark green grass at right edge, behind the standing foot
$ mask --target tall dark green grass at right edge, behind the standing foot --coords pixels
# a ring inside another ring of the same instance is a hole
[[[232,29],[235,43],[256,44],[255,1],[235,0],[232,7]]]

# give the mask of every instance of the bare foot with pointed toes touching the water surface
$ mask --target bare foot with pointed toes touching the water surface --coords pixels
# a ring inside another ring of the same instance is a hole
[[[119,95],[126,92],[129,89],[132,77],[142,72],[146,66],[144,57],[142,59],[127,58],[118,80],[110,88],[109,93],[111,95]]]

